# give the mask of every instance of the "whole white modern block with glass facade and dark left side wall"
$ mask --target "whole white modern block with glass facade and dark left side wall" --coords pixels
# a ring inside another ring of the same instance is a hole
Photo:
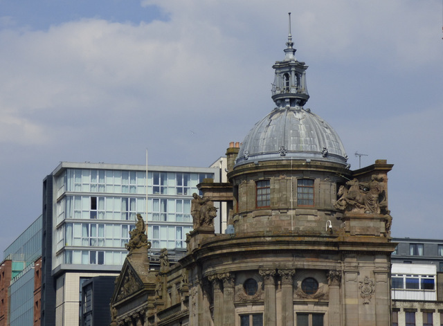
[[[219,178],[217,167],[60,163],[43,181],[42,325],[79,325],[82,283],[118,275],[137,213],[153,261],[161,248],[183,251],[192,193]]]

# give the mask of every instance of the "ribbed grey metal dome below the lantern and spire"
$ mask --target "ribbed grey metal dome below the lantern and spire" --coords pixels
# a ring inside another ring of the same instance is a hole
[[[340,137],[322,118],[302,107],[275,108],[248,133],[235,167],[255,161],[306,159],[347,165]]]

